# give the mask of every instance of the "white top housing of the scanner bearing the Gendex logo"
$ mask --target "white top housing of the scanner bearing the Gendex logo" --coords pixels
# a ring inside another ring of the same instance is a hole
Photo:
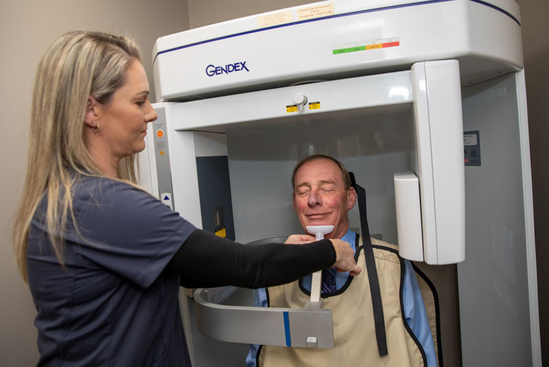
[[[404,70],[428,60],[459,60],[462,85],[472,84],[522,69],[519,22],[512,0],[336,0],[247,16],[158,38],[156,99]],[[242,62],[246,69],[207,74],[209,65]]]

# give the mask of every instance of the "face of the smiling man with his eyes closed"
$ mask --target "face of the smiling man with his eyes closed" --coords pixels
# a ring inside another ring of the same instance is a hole
[[[295,176],[294,209],[305,226],[334,226],[325,238],[341,238],[349,229],[347,211],[356,202],[355,189],[345,189],[341,169],[318,158],[299,167]]]

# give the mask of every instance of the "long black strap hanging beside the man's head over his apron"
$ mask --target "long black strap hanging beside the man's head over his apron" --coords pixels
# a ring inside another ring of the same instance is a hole
[[[382,294],[379,290],[379,280],[377,279],[377,270],[375,268],[375,258],[373,257],[372,241],[370,239],[370,230],[366,218],[366,190],[357,185],[355,175],[349,172],[351,176],[351,186],[354,187],[358,196],[358,211],[360,213],[360,231],[362,232],[362,245],[364,246],[364,258],[366,259],[366,271],[370,283],[370,294],[373,306],[373,321],[375,325],[375,338],[377,340],[377,349],[379,355],[388,354],[387,338],[385,334],[385,320],[383,316]]]

